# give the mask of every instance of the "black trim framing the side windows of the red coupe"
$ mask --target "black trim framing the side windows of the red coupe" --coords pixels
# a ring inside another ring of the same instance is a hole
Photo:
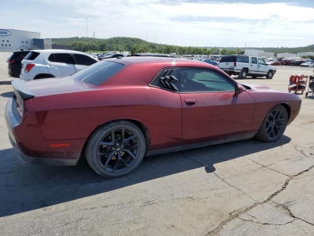
[[[203,70],[208,70],[208,71],[213,71],[213,72],[216,72],[218,73],[219,75],[221,75],[223,78],[229,80],[233,85],[238,85],[238,83],[236,83],[235,81],[231,80],[230,78],[228,78],[226,75],[222,74],[220,71],[216,71],[216,70],[213,70],[213,69],[210,69],[208,67],[190,67],[190,66],[187,66],[187,67],[184,67],[184,66],[179,66],[179,67],[165,67],[165,68],[162,68],[158,73],[157,75],[152,79],[152,81],[148,84],[149,87],[153,87],[153,88],[157,88],[157,89],[162,89],[162,90],[166,90],[166,91],[169,91],[169,92],[174,92],[174,93],[179,93],[179,94],[185,94],[185,93],[212,93],[212,92],[232,92],[233,90],[220,90],[220,91],[191,91],[191,92],[182,92],[182,91],[176,91],[176,90],[173,90],[173,89],[167,89],[167,88],[161,88],[159,86],[156,86],[156,85],[152,85],[153,82],[155,82],[156,80],[159,80],[160,78],[160,75],[165,71],[165,70],[175,70],[175,69],[203,69]],[[235,92],[235,91],[234,91]]]

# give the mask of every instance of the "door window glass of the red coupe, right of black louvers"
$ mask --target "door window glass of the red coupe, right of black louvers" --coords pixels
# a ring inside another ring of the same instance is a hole
[[[178,69],[174,71],[182,92],[234,91],[235,84],[223,75],[206,69]]]

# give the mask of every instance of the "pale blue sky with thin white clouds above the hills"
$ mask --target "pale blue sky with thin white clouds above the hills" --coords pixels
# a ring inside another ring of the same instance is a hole
[[[42,38],[95,32],[97,38],[179,46],[314,44],[314,0],[0,0],[0,6],[0,29],[40,32]]]

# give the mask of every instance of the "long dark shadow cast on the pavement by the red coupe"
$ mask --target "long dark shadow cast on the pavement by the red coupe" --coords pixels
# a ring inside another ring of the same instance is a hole
[[[283,136],[274,143],[255,139],[195,148],[143,159],[133,173],[119,178],[98,176],[80,160],[77,166],[37,166],[20,160],[13,148],[0,150],[0,217],[48,207],[109,192],[152,179],[204,168],[216,163],[279,147],[290,142]]]

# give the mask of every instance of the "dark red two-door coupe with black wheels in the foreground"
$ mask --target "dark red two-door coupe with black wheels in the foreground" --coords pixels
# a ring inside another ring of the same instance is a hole
[[[5,118],[18,156],[51,165],[83,156],[104,177],[130,173],[145,155],[276,141],[301,107],[295,94],[239,84],[186,59],[108,59],[69,77],[12,85]]]

